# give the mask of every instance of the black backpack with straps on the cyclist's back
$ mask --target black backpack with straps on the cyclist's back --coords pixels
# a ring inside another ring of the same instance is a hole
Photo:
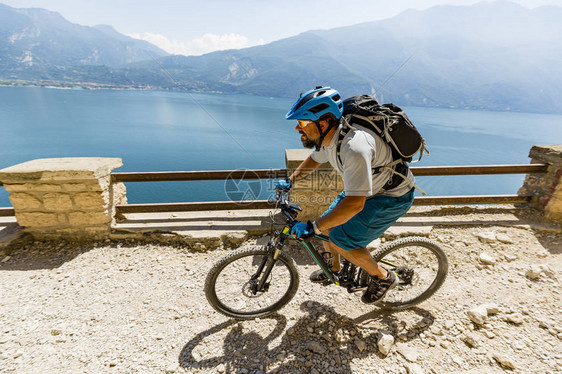
[[[394,104],[380,105],[370,95],[353,96],[343,101],[342,118],[344,127],[339,133],[336,147],[340,165],[342,164],[341,143],[354,124],[372,130],[390,146],[393,161],[373,168],[373,174],[380,173],[383,169],[393,170],[392,176],[383,187],[384,190],[391,190],[402,183],[408,173],[407,162],[411,162],[416,153],[420,153],[418,161],[421,160],[424,151],[429,154],[425,147],[425,139],[406,113]]]

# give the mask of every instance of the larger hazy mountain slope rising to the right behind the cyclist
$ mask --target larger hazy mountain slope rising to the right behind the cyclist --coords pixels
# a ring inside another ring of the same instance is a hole
[[[559,7],[438,6],[162,65],[190,88],[294,96],[330,84],[401,105],[562,112],[561,19]]]

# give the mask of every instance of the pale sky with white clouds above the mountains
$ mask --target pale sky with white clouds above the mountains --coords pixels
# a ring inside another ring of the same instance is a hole
[[[85,26],[111,25],[172,54],[201,55],[390,18],[408,9],[470,5],[481,0],[0,0],[43,8]],[[562,0],[511,0],[527,8]]]

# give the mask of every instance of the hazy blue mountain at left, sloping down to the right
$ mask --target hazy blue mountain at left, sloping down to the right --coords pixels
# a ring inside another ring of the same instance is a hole
[[[70,23],[44,9],[0,4],[0,73],[48,79],[51,70],[74,65],[121,67],[167,53],[111,26]]]

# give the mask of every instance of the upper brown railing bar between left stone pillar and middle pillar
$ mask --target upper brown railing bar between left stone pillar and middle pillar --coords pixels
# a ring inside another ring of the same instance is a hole
[[[114,182],[170,182],[225,179],[271,179],[287,176],[285,169],[257,170],[206,170],[206,171],[161,171],[142,173],[111,173]]]

